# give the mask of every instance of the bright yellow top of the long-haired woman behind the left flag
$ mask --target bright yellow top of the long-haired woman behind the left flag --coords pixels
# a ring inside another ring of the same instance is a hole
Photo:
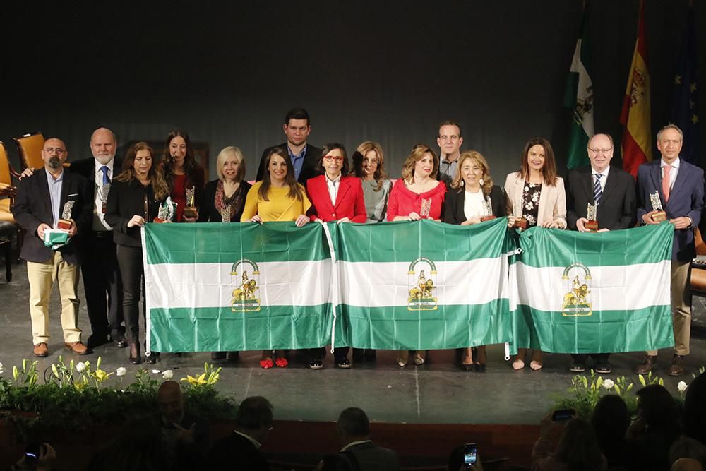
[[[241,221],[250,220],[254,215],[260,216],[263,222],[296,221],[300,214],[306,214],[306,211],[311,208],[311,202],[306,197],[306,190],[301,184],[298,184],[301,189],[301,201],[297,198],[289,198],[289,186],[270,186],[269,201],[265,201],[258,194],[262,183],[257,181],[248,191]]]

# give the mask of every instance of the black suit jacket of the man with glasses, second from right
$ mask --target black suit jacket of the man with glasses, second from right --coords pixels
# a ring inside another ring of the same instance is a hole
[[[574,169],[566,179],[566,224],[576,230],[576,220],[586,217],[593,204],[591,167]],[[628,229],[635,226],[635,179],[618,167],[611,167],[596,217],[599,229]]]

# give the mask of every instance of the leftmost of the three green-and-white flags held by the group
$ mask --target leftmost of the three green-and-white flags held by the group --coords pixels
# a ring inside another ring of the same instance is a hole
[[[320,225],[147,224],[143,254],[151,350],[330,341],[332,263]]]

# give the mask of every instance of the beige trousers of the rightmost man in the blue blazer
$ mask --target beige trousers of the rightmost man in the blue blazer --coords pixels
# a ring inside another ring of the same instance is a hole
[[[671,318],[674,323],[674,353],[689,354],[691,337],[691,304],[689,282],[690,262],[671,261]],[[650,350],[648,355],[656,355]]]

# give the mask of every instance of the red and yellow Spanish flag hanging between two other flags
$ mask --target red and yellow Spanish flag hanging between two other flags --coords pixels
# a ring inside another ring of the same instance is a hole
[[[638,174],[638,167],[652,160],[650,133],[650,73],[647,71],[647,43],[645,42],[645,11],[640,0],[638,39],[635,40],[633,63],[630,64],[628,87],[625,90],[620,122],[624,126],[623,169]]]

